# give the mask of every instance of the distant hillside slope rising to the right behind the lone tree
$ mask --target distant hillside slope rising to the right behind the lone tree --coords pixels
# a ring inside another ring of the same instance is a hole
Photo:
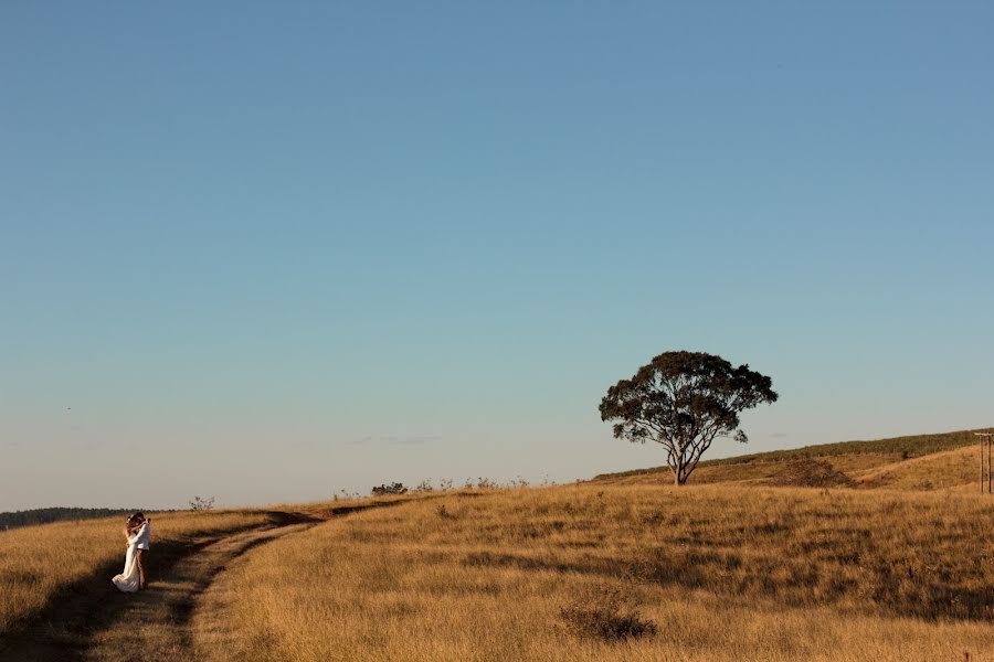
[[[702,461],[690,484],[856,487],[895,490],[966,489],[976,481],[975,431],[843,441]],[[815,473],[818,476],[816,477]],[[668,484],[666,467],[606,473],[594,482]]]

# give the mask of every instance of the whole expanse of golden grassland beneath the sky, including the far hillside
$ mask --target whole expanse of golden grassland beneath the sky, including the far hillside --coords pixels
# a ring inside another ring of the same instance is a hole
[[[156,659],[208,662],[994,661],[972,440],[760,453],[684,488],[647,470],[156,515],[139,596],[109,585],[117,517],[0,532],[0,660],[118,662],[138,627]]]

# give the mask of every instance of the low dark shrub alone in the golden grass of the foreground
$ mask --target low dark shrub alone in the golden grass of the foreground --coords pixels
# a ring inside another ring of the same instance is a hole
[[[620,589],[601,587],[559,611],[580,637],[621,641],[656,633],[656,623],[643,618],[634,601]]]

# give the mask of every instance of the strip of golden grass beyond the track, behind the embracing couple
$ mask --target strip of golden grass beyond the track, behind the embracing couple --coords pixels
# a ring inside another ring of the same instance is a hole
[[[154,555],[157,545],[257,526],[268,519],[262,512],[223,511],[151,517]],[[124,517],[109,517],[0,532],[0,634],[38,616],[60,591],[94,578],[108,564],[123,566],[124,524]]]

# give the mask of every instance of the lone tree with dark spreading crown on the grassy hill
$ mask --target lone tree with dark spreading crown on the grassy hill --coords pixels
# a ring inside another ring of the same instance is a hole
[[[775,403],[772,386],[770,377],[721,356],[665,352],[607,389],[601,420],[617,421],[618,439],[662,444],[674,484],[681,485],[716,437],[748,441],[739,414]]]

